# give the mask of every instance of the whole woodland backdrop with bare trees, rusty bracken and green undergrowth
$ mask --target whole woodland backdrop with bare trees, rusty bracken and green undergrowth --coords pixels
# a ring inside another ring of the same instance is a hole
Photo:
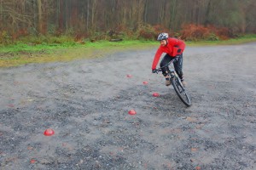
[[[187,42],[255,40],[255,8],[255,0],[0,0],[0,65],[14,51],[155,41],[162,31]]]

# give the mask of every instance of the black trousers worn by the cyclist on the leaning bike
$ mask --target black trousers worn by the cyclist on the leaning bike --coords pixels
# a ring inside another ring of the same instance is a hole
[[[172,59],[175,59],[171,57],[169,54],[166,54],[165,57],[161,60],[160,62],[160,67],[163,67],[167,65]],[[183,54],[180,54],[179,57],[173,62],[174,69],[177,72],[177,75],[180,79],[183,79]],[[162,72],[164,77],[166,77],[167,73],[167,68],[163,67]]]

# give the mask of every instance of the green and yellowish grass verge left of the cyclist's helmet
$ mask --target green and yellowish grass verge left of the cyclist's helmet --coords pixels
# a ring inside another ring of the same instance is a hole
[[[0,48],[0,67],[30,63],[66,62],[73,59],[91,59],[123,50],[137,50],[155,46],[157,42],[85,42],[85,44],[16,45]]]

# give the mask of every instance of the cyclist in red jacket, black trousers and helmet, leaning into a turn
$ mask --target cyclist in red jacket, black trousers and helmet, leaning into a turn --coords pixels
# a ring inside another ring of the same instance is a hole
[[[160,67],[168,64],[172,59],[177,58],[173,62],[174,69],[177,72],[178,77],[181,79],[183,86],[186,85],[183,77],[183,51],[185,49],[185,42],[177,38],[169,37],[167,33],[163,32],[157,37],[157,41],[160,41],[160,47],[157,49],[154,60],[152,63],[152,72],[156,72],[156,65],[159,62],[160,56],[166,53],[165,57],[160,62]],[[166,67],[162,68],[162,73],[166,77],[166,86],[171,85],[170,77],[167,75]]]

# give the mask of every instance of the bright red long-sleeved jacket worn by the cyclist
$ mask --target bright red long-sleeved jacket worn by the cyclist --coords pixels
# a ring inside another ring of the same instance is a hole
[[[154,55],[153,64],[152,64],[152,70],[154,70],[156,68],[156,65],[158,64],[161,54],[166,53],[166,54],[169,54],[171,57],[175,57],[177,54],[183,53],[185,46],[186,46],[185,42],[183,42],[182,40],[169,37],[167,39],[166,46],[163,47],[160,45],[160,47],[156,51],[156,53]],[[177,53],[178,49],[181,49],[180,53]]]

